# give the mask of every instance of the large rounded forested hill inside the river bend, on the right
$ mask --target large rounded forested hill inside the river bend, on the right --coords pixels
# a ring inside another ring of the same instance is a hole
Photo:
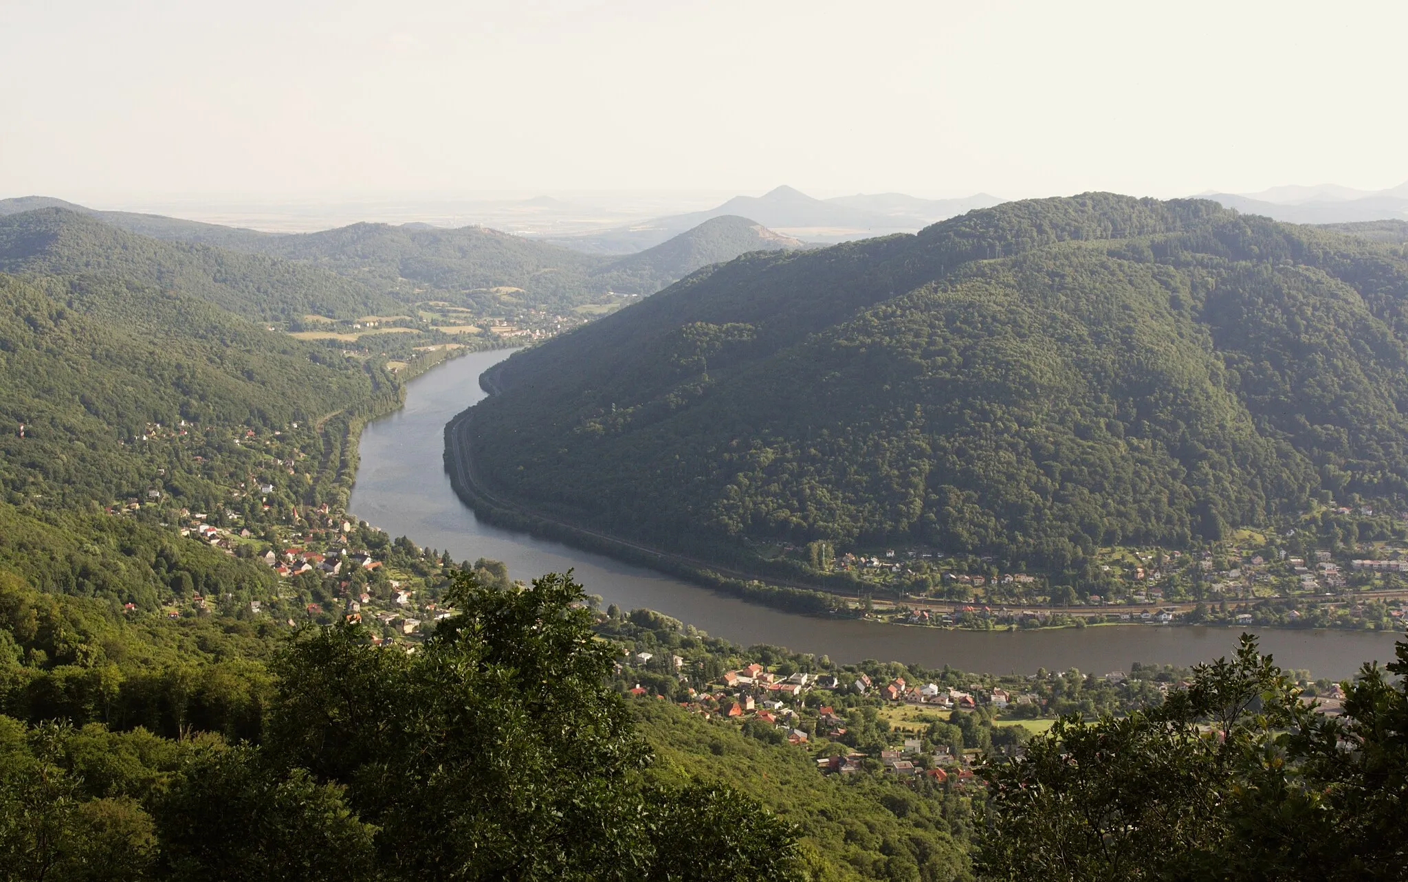
[[[542,510],[1062,568],[1408,500],[1408,255],[1204,200],[1005,203],[715,266],[498,382],[480,472]]]

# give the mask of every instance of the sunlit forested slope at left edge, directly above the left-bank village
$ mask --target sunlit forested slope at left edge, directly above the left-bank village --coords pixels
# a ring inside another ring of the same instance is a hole
[[[149,487],[182,495],[184,482],[187,504],[206,507],[199,461],[145,441],[156,424],[218,428],[231,444],[237,428],[266,435],[394,397],[379,366],[131,280],[0,275],[0,487],[13,504],[83,509]]]

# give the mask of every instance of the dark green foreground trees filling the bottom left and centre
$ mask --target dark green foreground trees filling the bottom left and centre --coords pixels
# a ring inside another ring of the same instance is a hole
[[[791,828],[650,774],[582,586],[460,579],[421,652],[356,627],[273,661],[255,733],[0,717],[23,879],[793,879]],[[238,740],[238,743],[237,743]]]

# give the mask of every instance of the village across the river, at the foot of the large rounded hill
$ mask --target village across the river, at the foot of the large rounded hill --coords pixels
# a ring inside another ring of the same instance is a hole
[[[755,551],[839,576],[826,585],[852,595],[857,614],[910,626],[1408,626],[1408,514],[1367,504],[1328,503],[1204,548],[1100,548],[1060,578],[931,547],[838,554],[829,542],[779,541]]]

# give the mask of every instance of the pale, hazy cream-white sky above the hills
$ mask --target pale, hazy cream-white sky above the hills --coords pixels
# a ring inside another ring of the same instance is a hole
[[[0,196],[1408,179],[1408,3],[0,0]]]

